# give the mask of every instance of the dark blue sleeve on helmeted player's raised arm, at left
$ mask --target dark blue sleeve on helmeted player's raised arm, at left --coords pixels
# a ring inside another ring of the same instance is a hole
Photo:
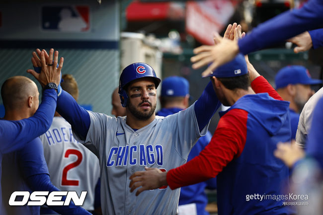
[[[76,132],[82,140],[85,140],[91,123],[90,115],[65,90],[62,90],[62,94],[57,99],[56,110],[71,124],[73,131]]]

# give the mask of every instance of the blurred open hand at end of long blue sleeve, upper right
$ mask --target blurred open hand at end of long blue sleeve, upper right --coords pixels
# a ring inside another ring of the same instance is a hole
[[[212,74],[213,70],[231,61],[239,53],[238,40],[234,39],[234,30],[237,23],[228,25],[225,37],[216,34],[214,37],[215,46],[200,46],[193,50],[195,56],[191,58],[192,68],[198,69],[213,62],[204,72],[202,77]]]

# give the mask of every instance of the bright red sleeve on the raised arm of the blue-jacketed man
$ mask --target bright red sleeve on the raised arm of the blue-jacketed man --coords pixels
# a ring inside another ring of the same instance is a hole
[[[278,92],[270,85],[270,83],[263,77],[258,76],[251,82],[251,87],[255,93],[267,92],[269,96],[277,100],[283,100]]]

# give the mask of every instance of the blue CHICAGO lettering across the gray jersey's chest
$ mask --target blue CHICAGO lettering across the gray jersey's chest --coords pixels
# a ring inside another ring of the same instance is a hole
[[[136,155],[139,155],[139,158]],[[110,149],[106,166],[126,166],[128,164],[147,166],[155,163],[162,166],[162,161],[161,145],[126,145]]]

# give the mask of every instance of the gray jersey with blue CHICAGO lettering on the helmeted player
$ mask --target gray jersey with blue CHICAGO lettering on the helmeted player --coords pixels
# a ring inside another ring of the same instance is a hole
[[[129,177],[145,166],[169,170],[186,162],[188,153],[208,125],[199,132],[194,105],[167,117],[156,116],[134,131],[126,117],[89,111],[85,141],[98,153],[101,171],[101,206],[105,215],[175,215],[180,189],[160,188],[138,197],[130,193]],[[75,134],[78,140],[77,134]]]

